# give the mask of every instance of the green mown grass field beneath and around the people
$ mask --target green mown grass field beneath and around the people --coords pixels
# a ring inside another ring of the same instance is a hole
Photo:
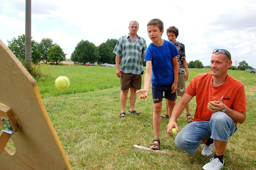
[[[133,144],[149,147],[154,137],[152,94],[150,92],[145,100],[136,101],[136,109],[142,112],[141,116],[126,114],[125,119],[119,119],[120,80],[116,77],[115,69],[100,66],[41,66],[47,76],[36,80],[39,91],[72,168],[202,169],[211,157],[201,155],[203,146],[192,155],[179,150],[174,145],[174,137],[166,133],[167,119],[161,122],[161,150],[171,152],[172,156],[133,147]],[[210,69],[189,71],[187,85],[196,74],[209,72]],[[248,111],[245,123],[238,124],[238,130],[228,142],[224,169],[255,169],[256,74],[232,70],[228,73],[244,83],[248,94]],[[61,75],[67,76],[71,83],[63,91],[54,86],[54,80]],[[195,97],[190,106],[194,113]],[[128,109],[129,101],[126,112]],[[184,113],[177,123],[180,128],[187,124]]]

